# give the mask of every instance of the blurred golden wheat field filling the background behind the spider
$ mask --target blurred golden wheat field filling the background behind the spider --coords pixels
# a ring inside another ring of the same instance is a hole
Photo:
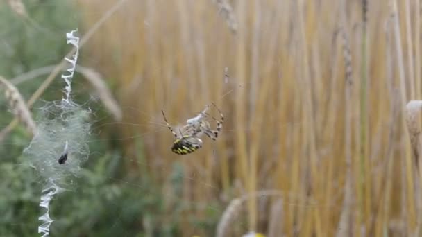
[[[78,1],[84,30],[115,3]],[[163,193],[160,170],[181,161],[202,181],[186,180],[183,200],[229,207],[217,236],[421,236],[405,107],[421,99],[420,16],[419,0],[127,0],[84,64],[114,85],[118,136],[148,134]],[[210,103],[225,117],[217,141],[171,153],[161,109],[176,125]],[[140,152],[135,139],[123,146]]]

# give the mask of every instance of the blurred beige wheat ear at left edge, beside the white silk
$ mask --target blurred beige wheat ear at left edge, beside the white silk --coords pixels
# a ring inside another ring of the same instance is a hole
[[[0,83],[5,88],[5,96],[9,102],[10,109],[19,121],[24,123],[28,132],[35,134],[36,125],[32,119],[31,112],[26,106],[23,96],[19,93],[19,90],[12,85],[8,80],[0,76]],[[1,134],[0,134],[1,135]],[[1,137],[1,136],[0,136]]]

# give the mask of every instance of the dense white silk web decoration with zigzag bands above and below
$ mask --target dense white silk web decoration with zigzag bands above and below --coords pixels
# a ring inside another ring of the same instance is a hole
[[[90,110],[83,109],[71,100],[71,81],[74,76],[79,52],[76,30],[66,34],[67,44],[75,47],[71,58],[65,58],[70,66],[62,75],[65,81],[62,100],[47,102],[40,108],[37,117],[38,129],[33,140],[24,149],[31,167],[44,182],[40,207],[45,212],[38,218],[41,224],[38,233],[49,236],[53,219],[49,206],[54,196],[65,191],[67,177],[77,176],[80,166],[89,155],[87,143],[90,137]]]

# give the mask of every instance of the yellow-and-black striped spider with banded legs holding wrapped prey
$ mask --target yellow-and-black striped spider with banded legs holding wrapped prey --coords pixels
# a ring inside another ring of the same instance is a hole
[[[203,133],[214,141],[217,139],[219,132],[221,132],[221,128],[223,127],[224,116],[221,113],[221,110],[214,103],[212,103],[212,105],[214,105],[214,107],[220,113],[221,120],[217,120],[213,116],[207,114],[207,111],[210,108],[210,106],[207,105],[205,109],[202,112],[199,112],[197,116],[186,121],[187,124],[179,130],[180,135],[174,132],[173,128],[171,128],[171,125],[167,121],[164,111],[161,111],[162,116],[164,117],[164,121],[167,123],[167,128],[169,128],[175,137],[173,146],[171,146],[171,151],[179,155],[186,155],[194,152],[195,150],[198,150],[202,147],[202,140],[199,137],[201,137]],[[212,130],[210,123],[205,120],[208,117],[211,117],[214,119],[214,121],[217,122],[216,130]]]

